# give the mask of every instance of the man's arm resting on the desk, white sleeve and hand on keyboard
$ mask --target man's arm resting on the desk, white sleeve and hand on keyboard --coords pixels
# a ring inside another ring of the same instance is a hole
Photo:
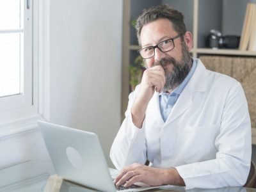
[[[127,185],[139,181],[149,185],[186,184],[186,189],[243,186],[250,170],[252,143],[247,102],[239,83],[228,92],[222,112],[220,134],[215,140],[216,159],[168,169],[133,164],[122,170],[116,184],[127,180]]]

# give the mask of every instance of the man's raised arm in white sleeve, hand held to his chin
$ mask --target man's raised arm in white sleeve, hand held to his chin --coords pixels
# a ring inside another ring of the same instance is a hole
[[[147,160],[145,140],[145,111],[155,90],[164,86],[164,70],[161,66],[148,68],[143,73],[140,86],[129,95],[125,120],[113,142],[110,157],[117,169],[132,163],[144,164]]]

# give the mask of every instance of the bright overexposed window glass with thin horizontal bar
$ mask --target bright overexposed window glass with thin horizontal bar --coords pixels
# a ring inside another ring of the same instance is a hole
[[[24,22],[20,1],[0,1],[0,97],[20,94]]]

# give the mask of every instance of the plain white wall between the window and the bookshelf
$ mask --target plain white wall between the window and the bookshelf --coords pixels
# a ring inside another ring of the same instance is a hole
[[[50,1],[50,122],[98,134],[109,150],[120,127],[122,1]]]

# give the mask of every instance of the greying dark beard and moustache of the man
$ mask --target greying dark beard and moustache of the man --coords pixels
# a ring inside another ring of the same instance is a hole
[[[186,44],[182,42],[182,59],[181,61],[177,61],[172,57],[162,58],[159,61],[154,62],[154,66],[161,65],[164,68],[165,75],[165,84],[164,84],[164,92],[168,90],[173,90],[177,84],[182,83],[182,81],[188,76],[189,70],[191,66],[189,65],[189,61],[191,57],[189,52],[186,49]],[[165,67],[167,65],[173,65],[173,70],[169,71]]]

